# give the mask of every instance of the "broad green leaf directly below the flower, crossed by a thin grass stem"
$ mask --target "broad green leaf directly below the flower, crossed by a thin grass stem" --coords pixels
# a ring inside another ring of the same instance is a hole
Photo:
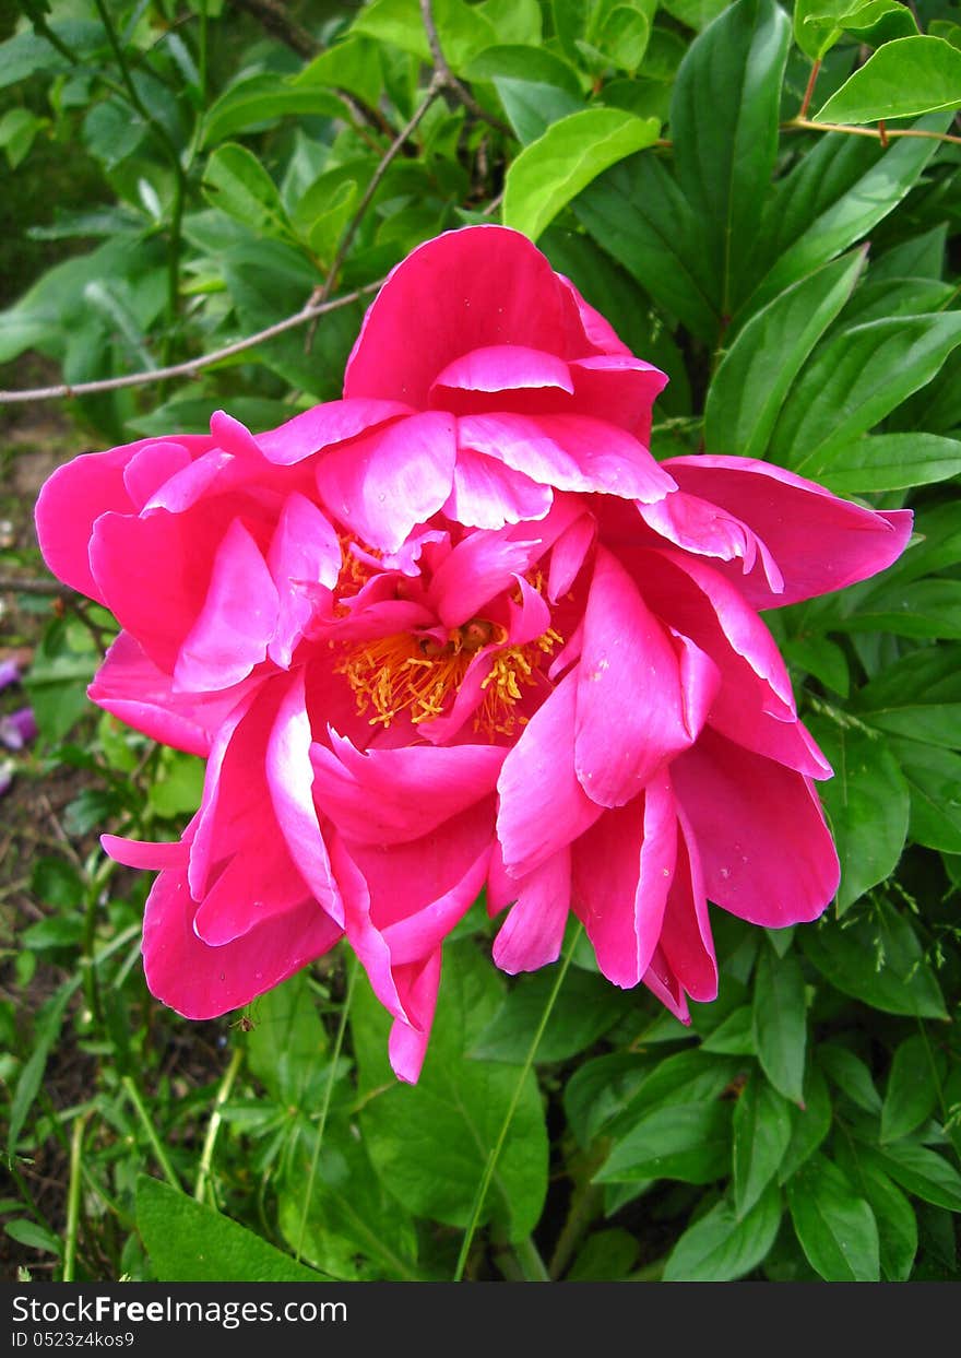
[[[444,953],[433,1036],[417,1085],[391,1084],[360,1124],[384,1183],[418,1217],[466,1226],[487,1156],[517,1088],[519,1070],[466,1059],[501,1005],[504,986],[472,942]],[[510,1240],[527,1236],[547,1191],[547,1133],[538,1082],[528,1073],[487,1198]]]

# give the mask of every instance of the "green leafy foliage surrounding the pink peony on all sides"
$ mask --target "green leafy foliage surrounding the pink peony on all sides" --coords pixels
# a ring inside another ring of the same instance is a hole
[[[415,0],[303,4],[269,31],[110,0],[113,34],[67,0],[24,5],[0,43],[0,148],[29,177],[69,144],[100,190],[34,227],[65,254],[3,314],[0,360],[39,353],[72,384],[144,373],[77,398],[88,441],[204,428],[220,405],[265,428],[335,397],[362,296],[243,341],[495,220],[502,191],[502,219],[671,373],[658,456],[766,458],[916,516],[878,580],[767,619],[836,773],[836,909],[767,936],[715,911],[721,995],[690,1028],[576,947],[536,1050],[555,972],[501,978],[471,913],[417,1088],[337,955],[239,1019],[156,1012],[144,888],[94,832],[175,835],[198,765],[90,716],[106,615],[43,619],[23,774],[81,786],[5,945],[7,1236],[31,1267],[440,1279],[474,1218],[478,1278],[958,1277],[961,56],[937,10],[437,0],[438,72]],[[189,386],[151,378],[190,363]],[[90,1078],[61,1096],[71,1062]],[[65,1238],[33,1162],[65,1161],[72,1134]]]

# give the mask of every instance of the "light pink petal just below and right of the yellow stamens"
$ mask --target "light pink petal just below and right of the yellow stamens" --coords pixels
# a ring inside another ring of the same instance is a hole
[[[576,675],[561,680],[504,760],[497,838],[513,877],[525,877],[601,813],[574,774]]]

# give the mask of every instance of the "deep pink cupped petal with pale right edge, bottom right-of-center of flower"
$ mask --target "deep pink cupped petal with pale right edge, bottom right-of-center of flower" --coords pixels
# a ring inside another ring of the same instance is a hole
[[[574,845],[574,909],[615,986],[637,986],[652,964],[676,856],[677,812],[666,774],[630,805],[607,811]]]

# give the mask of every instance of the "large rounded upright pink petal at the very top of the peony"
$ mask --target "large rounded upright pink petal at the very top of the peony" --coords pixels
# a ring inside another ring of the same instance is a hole
[[[377,293],[350,354],[343,395],[422,409],[437,373],[472,349],[523,345],[559,353],[569,304],[544,255],[519,231],[448,231],[411,251]]]

